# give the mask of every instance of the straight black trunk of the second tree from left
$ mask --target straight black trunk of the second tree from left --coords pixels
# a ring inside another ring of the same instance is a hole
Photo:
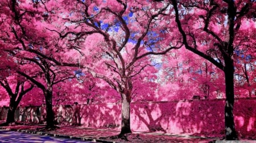
[[[47,91],[44,94],[46,98],[46,128],[55,128],[54,122],[54,114],[52,110],[52,92]]]

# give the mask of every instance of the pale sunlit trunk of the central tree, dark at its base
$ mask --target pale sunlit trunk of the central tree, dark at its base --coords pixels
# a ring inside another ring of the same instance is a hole
[[[130,127],[130,96],[122,94],[122,125],[121,132],[119,136],[125,135],[126,133],[131,133]]]

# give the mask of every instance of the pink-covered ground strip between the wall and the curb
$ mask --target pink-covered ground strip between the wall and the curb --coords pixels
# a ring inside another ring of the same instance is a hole
[[[122,138],[115,138],[119,133],[118,129],[113,128],[85,128],[60,126],[55,131],[42,131],[44,125],[23,124],[9,125],[2,127],[10,130],[29,130],[52,133],[56,135],[66,135],[74,137],[96,138],[100,140],[116,142],[213,142],[219,138],[206,138],[195,136],[163,135],[162,133],[129,133]]]

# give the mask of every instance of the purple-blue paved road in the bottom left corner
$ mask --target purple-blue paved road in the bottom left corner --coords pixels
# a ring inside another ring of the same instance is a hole
[[[43,143],[57,143],[57,142],[71,142],[71,143],[85,143],[88,141],[78,141],[66,138],[56,138],[49,136],[31,135],[27,133],[20,133],[14,131],[6,131],[0,129],[0,142],[43,142]],[[88,142],[89,143],[89,142]]]

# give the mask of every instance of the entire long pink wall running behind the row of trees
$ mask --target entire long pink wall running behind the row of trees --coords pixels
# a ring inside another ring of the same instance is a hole
[[[131,103],[131,130],[133,132],[162,132],[207,137],[224,136],[224,100],[169,101]],[[256,98],[236,100],[234,119],[240,137],[256,135]],[[26,112],[30,107],[23,107]],[[20,108],[22,109],[22,108]],[[56,122],[70,125],[72,106],[55,106]],[[21,111],[19,114],[21,114]],[[41,110],[40,110],[41,111]],[[25,112],[25,113],[26,113]],[[39,115],[40,116],[40,115]],[[30,119],[33,118],[33,119]],[[37,122],[35,113],[29,113],[23,121]],[[81,124],[84,127],[118,127],[121,124],[121,103],[81,105]],[[19,120],[22,119],[19,115]]]

